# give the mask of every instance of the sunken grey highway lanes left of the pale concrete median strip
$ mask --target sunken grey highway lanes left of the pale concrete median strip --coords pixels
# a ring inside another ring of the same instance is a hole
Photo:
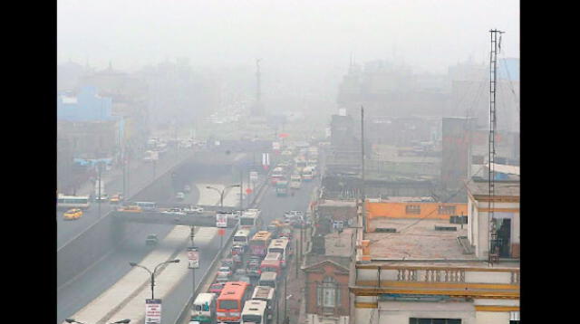
[[[191,192],[186,194],[185,201],[195,205],[199,192],[196,186],[192,186],[191,189]],[[137,226],[138,230],[135,234],[127,237],[117,250],[105,256],[102,261],[94,264],[74,281],[57,291],[57,323],[62,323],[68,316],[81,310],[91,300],[119,281],[131,270],[129,262],[139,262],[147,253],[150,253],[151,248],[145,245],[148,234],[157,233],[159,239],[162,240],[174,227],[174,225],[160,224],[129,224],[129,226]],[[159,248],[175,249],[172,246],[162,245]]]

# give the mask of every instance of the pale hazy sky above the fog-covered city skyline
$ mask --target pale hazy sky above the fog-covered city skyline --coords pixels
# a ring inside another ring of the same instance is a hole
[[[57,59],[119,69],[188,57],[192,65],[300,70],[393,55],[415,70],[519,57],[519,2],[498,0],[59,0]]]

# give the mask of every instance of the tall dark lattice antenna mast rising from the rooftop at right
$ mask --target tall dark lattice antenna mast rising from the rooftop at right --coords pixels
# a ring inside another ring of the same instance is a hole
[[[489,215],[489,252],[488,261],[494,262],[498,258],[498,232],[494,220],[495,197],[495,157],[496,157],[496,82],[498,70],[498,35],[501,41],[501,32],[497,29],[489,31],[491,36],[491,52],[489,54],[489,172],[488,172],[488,215]],[[501,46],[501,45],[499,45]],[[500,47],[501,48],[501,47]]]

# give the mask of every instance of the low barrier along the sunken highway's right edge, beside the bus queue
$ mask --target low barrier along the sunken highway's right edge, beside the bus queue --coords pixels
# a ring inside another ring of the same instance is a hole
[[[262,185],[258,189],[258,193],[256,194],[254,200],[252,201],[252,204],[250,206],[248,206],[248,208],[254,208],[257,205],[257,203],[259,202],[259,200],[261,200],[261,198],[263,196],[262,194],[264,193],[264,190],[265,190],[267,183],[268,183],[268,178],[269,178],[269,176],[266,175],[266,179],[264,180],[264,182],[262,183]],[[211,279],[211,281],[214,280],[213,277],[216,276],[216,269],[218,268],[219,261],[225,255],[227,255],[226,253],[229,253],[229,249],[231,247],[231,243],[232,243],[232,240],[233,240],[236,232],[237,232],[237,225],[234,228],[234,230],[232,231],[232,233],[230,233],[229,236],[227,237],[227,241],[224,244],[224,247],[222,248],[221,252],[218,253],[216,255],[216,257],[212,260],[212,262],[208,268],[208,271],[203,275],[201,281],[199,281],[199,284],[198,284],[198,287],[196,288],[196,290],[193,292],[193,294],[191,294],[189,296],[189,299],[184,303],[183,308],[181,309],[181,312],[179,314],[179,317],[175,321],[175,324],[189,322],[189,317],[191,316],[191,304],[195,301],[194,296],[197,296],[199,292],[203,292],[202,290],[207,285],[209,279]],[[212,275],[213,275],[213,277],[212,277]],[[186,319],[188,319],[188,320],[186,320]]]

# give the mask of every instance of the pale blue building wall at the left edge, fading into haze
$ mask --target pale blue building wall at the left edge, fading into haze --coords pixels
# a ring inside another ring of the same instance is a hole
[[[111,116],[111,98],[99,97],[96,87],[83,87],[76,96],[76,103],[63,102],[63,97],[63,93],[58,93],[56,97],[56,114],[59,120],[96,121],[116,119]]]

